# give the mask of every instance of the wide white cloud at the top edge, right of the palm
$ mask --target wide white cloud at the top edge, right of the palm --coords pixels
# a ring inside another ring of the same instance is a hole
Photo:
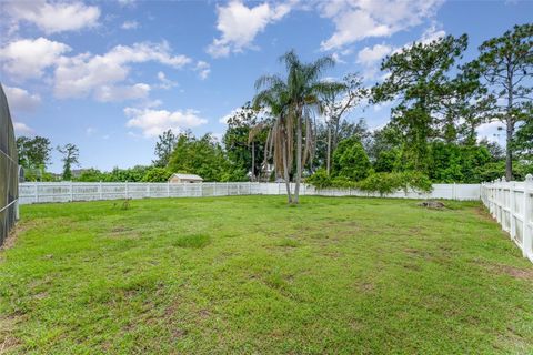
[[[322,17],[335,24],[335,32],[321,43],[332,50],[370,37],[391,34],[421,24],[434,16],[442,0],[338,0],[319,3]]]

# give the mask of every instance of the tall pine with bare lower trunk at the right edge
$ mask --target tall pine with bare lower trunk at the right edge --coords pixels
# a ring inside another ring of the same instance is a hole
[[[480,47],[474,62],[494,98],[492,118],[505,124],[505,178],[513,179],[513,140],[516,123],[531,114],[533,100],[533,24],[515,26]]]

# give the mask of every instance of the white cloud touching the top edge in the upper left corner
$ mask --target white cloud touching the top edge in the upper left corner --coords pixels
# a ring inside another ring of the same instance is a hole
[[[16,26],[20,21],[30,22],[48,34],[94,27],[100,18],[98,7],[79,1],[9,1],[3,9]]]

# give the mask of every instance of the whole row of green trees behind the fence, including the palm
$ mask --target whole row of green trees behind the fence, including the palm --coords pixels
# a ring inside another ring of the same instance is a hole
[[[284,181],[290,203],[299,202],[302,183],[386,193],[521,180],[533,172],[533,24],[484,41],[466,62],[467,45],[466,34],[406,45],[383,59],[384,79],[370,88],[358,73],[326,80],[330,57],[308,63],[289,51],[280,58],[284,73],[257,80],[257,94],[229,118],[221,141],[169,130],[151,165],[90,169],[76,179],[167,181],[185,172],[204,181]],[[383,128],[348,119],[375,104],[392,105]],[[495,121],[503,123],[504,148],[477,136],[480,125]],[[47,164],[47,139],[19,140],[23,166]],[[73,148],[60,148],[63,179],[78,161]]]

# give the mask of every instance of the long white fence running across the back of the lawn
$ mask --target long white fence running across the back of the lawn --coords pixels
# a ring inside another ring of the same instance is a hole
[[[480,200],[479,184],[434,184],[431,193],[398,191],[398,199]],[[291,184],[294,191],[294,184]],[[231,195],[283,195],[284,183],[129,183],[129,182],[38,182],[19,185],[20,204],[148,197],[201,197]],[[302,185],[302,195],[379,196],[353,189],[324,189]]]

